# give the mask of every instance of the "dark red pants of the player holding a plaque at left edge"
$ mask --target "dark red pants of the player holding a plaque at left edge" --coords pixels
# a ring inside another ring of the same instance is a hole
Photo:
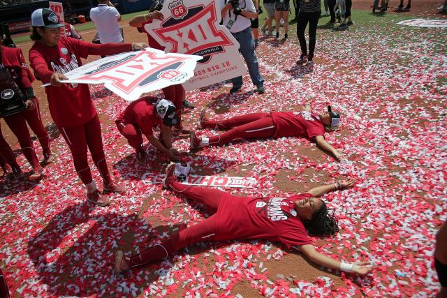
[[[33,101],[36,105],[36,109],[13,114],[4,117],[4,119],[10,130],[14,133],[15,137],[17,137],[20,147],[22,148],[23,155],[27,158],[27,161],[31,164],[31,166],[36,169],[41,167],[41,165],[39,164],[36,156],[36,150],[34,149],[34,144],[31,140],[31,135],[29,134],[27,124],[37,135],[45,156],[50,154],[50,137],[42,124],[38,100],[33,98]]]

